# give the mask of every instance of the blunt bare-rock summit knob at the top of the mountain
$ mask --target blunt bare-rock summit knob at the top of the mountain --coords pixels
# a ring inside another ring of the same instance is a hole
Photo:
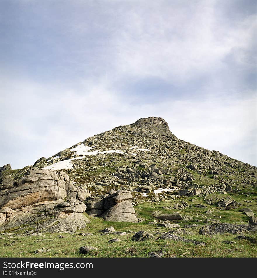
[[[141,130],[143,133],[158,133],[167,137],[174,137],[168,123],[160,117],[141,118],[131,125],[132,129]]]

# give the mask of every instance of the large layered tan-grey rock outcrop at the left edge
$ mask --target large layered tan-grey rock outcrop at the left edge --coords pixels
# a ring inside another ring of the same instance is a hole
[[[0,231],[74,232],[90,223],[81,201],[89,192],[72,185],[66,173],[30,167],[14,178],[10,171],[10,164],[0,169]]]

